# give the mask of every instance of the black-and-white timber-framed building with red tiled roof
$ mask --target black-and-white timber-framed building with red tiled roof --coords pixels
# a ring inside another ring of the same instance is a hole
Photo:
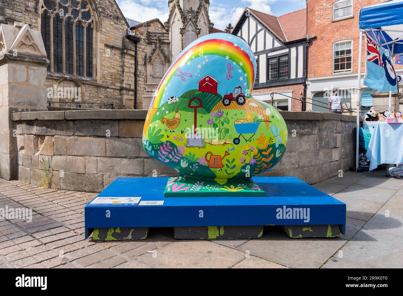
[[[306,8],[279,17],[249,7],[232,31],[255,53],[257,73],[252,95],[271,101],[281,110],[301,111],[301,99],[306,93]]]

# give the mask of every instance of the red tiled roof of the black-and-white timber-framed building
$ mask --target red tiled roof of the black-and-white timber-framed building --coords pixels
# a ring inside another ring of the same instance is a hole
[[[266,27],[283,42],[306,37],[306,8],[289,12],[279,17],[249,7],[245,9],[252,12],[256,18],[266,25]]]

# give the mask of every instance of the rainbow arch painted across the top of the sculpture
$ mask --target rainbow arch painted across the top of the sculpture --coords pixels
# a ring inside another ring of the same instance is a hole
[[[211,35],[216,34],[210,34],[210,36]],[[199,56],[200,53],[202,53],[201,56],[215,55],[222,56],[224,58],[228,56],[229,61],[236,61],[237,63],[239,63],[240,68],[247,75],[247,89],[249,89],[250,93],[250,90],[253,88],[253,82],[255,81],[255,57],[249,56],[249,54],[247,54],[247,52],[241,46],[231,41],[223,39],[208,39],[200,43],[196,43],[194,46],[191,46],[191,48],[186,50],[173,62],[173,64],[170,66],[170,68],[162,78],[162,81],[158,85],[157,93],[152,100],[150,108],[160,107],[162,96],[164,94],[164,87],[174,77],[175,73],[177,72],[177,67],[183,66],[184,64],[192,60],[193,57]]]

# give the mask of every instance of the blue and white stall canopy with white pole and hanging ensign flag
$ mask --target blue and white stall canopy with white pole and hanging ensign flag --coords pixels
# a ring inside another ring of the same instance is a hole
[[[361,90],[361,56],[363,36],[367,40],[366,77],[364,83],[378,91],[397,92],[397,77],[393,69],[393,57],[403,54],[403,0],[391,0],[364,7],[359,13],[359,56],[357,77],[357,141],[356,169],[359,167],[359,98]],[[369,85],[371,84],[371,85]],[[385,124],[399,124],[388,123]],[[380,123],[382,124],[382,123]],[[379,124],[378,124],[379,125]],[[378,138],[377,138],[378,139]],[[383,149],[381,147],[381,149]],[[391,151],[393,153],[393,151]]]

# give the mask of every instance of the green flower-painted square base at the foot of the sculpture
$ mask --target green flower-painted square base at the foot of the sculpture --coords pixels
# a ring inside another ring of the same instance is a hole
[[[171,177],[165,186],[164,197],[264,197],[264,190],[251,178],[216,180],[191,176]]]

